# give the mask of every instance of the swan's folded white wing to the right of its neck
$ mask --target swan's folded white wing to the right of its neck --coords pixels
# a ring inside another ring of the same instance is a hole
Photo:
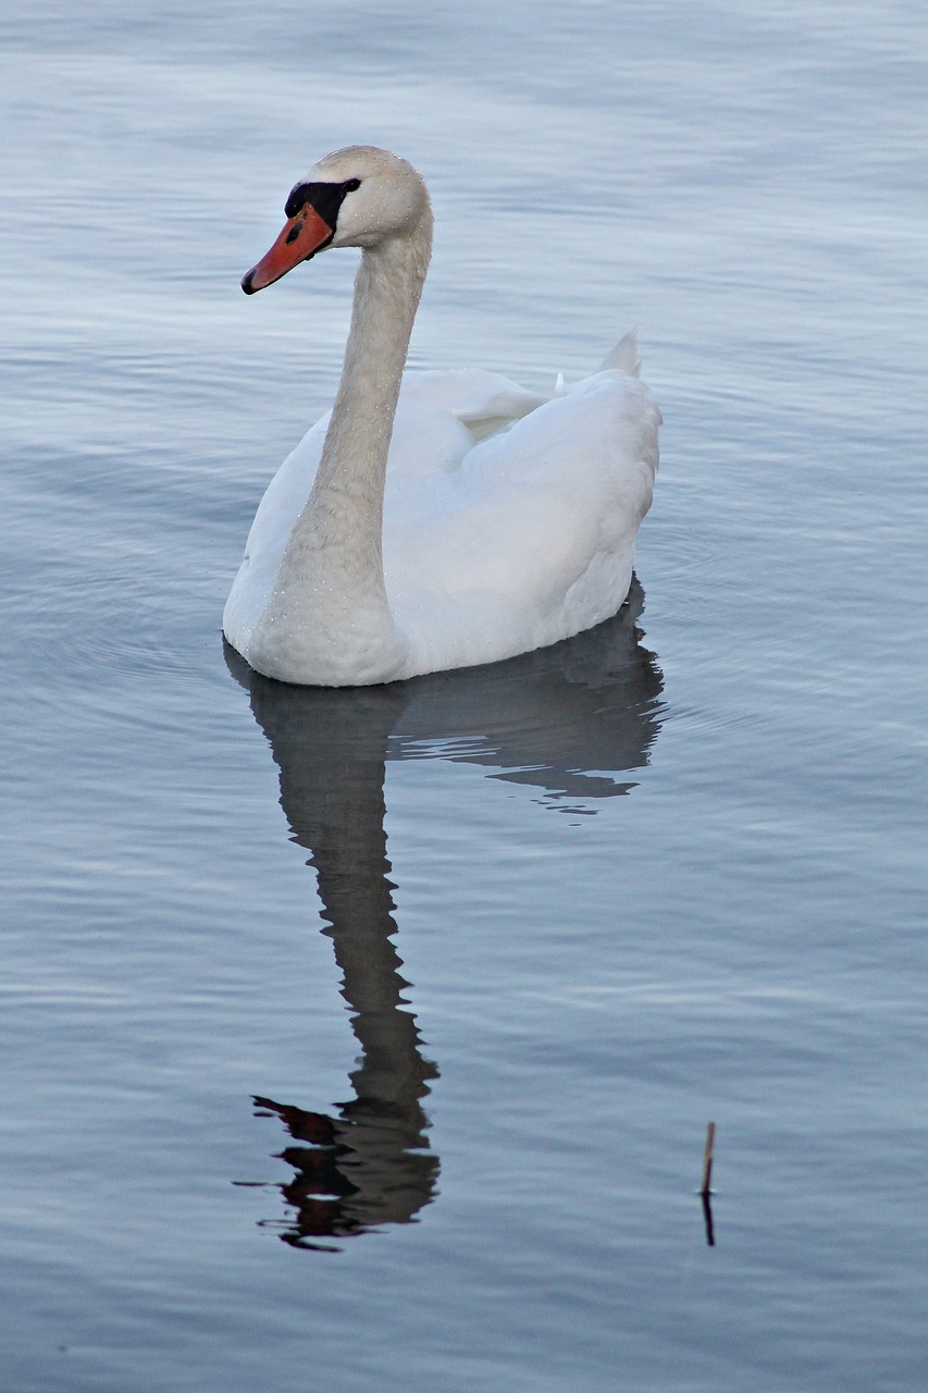
[[[412,651],[405,676],[556,642],[619,609],[659,419],[644,383],[610,368],[387,510],[385,577]]]

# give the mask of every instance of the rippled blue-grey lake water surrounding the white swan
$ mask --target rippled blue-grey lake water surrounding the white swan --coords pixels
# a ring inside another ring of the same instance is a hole
[[[316,8],[3,18],[4,1393],[921,1390],[924,4]],[[414,364],[665,428],[614,621],[333,694],[219,624],[353,141]]]

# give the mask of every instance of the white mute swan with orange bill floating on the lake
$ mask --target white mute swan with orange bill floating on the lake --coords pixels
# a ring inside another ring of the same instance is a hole
[[[489,372],[404,376],[432,245],[419,174],[373,146],[337,150],[286,212],[248,294],[326,247],[362,255],[334,405],[261,501],[223,614],[233,648],[281,681],[365,685],[614,614],[658,465],[634,336],[552,400]]]

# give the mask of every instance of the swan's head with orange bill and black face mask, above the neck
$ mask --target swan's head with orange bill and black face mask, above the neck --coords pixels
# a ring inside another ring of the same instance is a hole
[[[432,209],[422,176],[408,160],[375,145],[326,155],[294,184],[284,212],[277,241],[242,277],[247,295],[329,247],[375,249],[417,233],[426,245],[431,241]]]

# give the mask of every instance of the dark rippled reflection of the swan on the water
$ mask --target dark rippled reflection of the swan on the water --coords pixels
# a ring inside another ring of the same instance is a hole
[[[293,840],[318,876],[323,929],[334,944],[361,1055],[354,1096],[334,1114],[255,1096],[294,1145],[277,1185],[295,1247],[325,1247],[386,1223],[408,1223],[435,1195],[422,1099],[438,1068],[422,1053],[393,937],[385,773],[393,759],[484,765],[528,784],[541,801],[592,814],[627,794],[660,724],[662,677],[640,642],[642,593],[574,639],[488,667],[389,687],[311,688],[269,681],[231,649],[226,660],[251,695],[280,772]]]

